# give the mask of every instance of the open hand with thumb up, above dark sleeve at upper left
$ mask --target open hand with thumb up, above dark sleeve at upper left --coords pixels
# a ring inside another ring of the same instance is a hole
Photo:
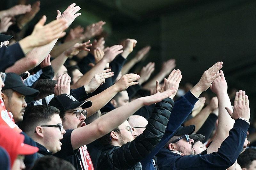
[[[64,19],[54,20],[44,26],[46,22],[46,16],[44,15],[40,21],[36,24],[30,37],[30,43],[34,47],[46,45],[52,42],[54,39],[63,37],[63,32],[68,26]]]

